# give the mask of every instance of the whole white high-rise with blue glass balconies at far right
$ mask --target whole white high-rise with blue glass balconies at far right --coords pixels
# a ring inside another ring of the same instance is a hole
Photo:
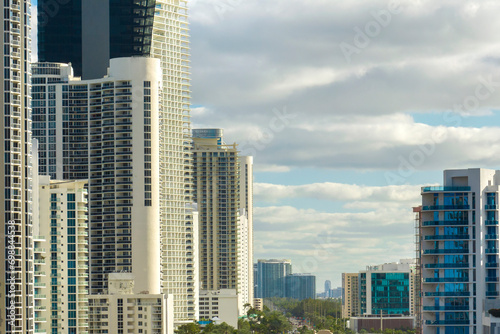
[[[422,188],[421,266],[424,333],[494,333],[500,318],[500,171],[445,170]]]

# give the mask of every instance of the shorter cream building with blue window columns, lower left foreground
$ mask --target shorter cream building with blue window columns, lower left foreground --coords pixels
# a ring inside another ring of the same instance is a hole
[[[40,176],[34,185],[35,333],[89,330],[85,184]]]

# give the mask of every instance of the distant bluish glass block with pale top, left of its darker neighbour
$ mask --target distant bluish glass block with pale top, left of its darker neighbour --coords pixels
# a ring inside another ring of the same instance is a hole
[[[285,297],[285,276],[291,273],[290,260],[259,260],[255,298]]]

